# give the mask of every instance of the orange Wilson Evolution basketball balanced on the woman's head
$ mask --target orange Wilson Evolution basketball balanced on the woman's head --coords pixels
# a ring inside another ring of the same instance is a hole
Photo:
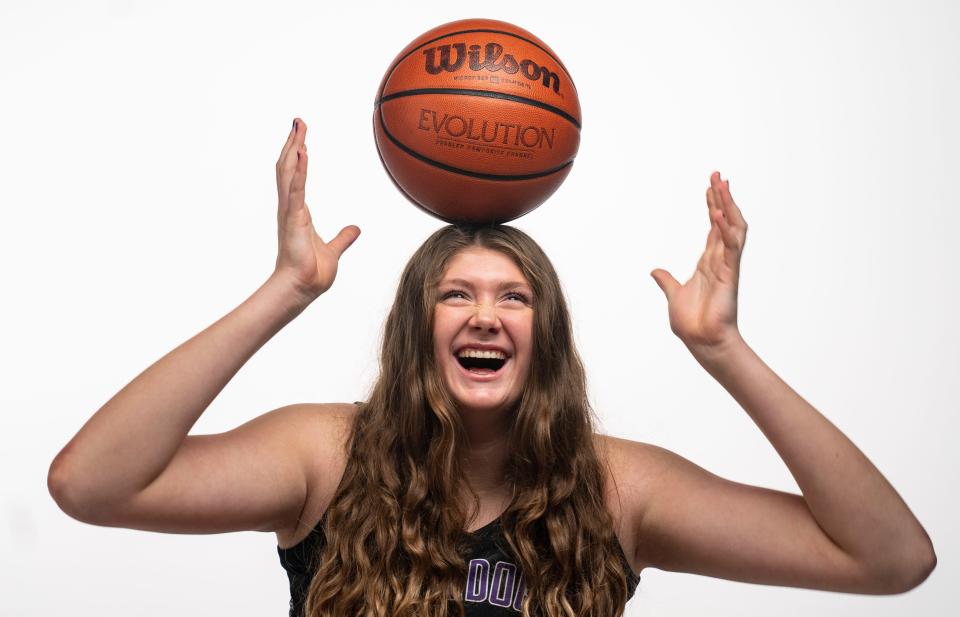
[[[492,19],[425,32],[390,64],[373,112],[384,168],[448,222],[502,223],[542,204],[580,145],[573,80],[540,39]]]

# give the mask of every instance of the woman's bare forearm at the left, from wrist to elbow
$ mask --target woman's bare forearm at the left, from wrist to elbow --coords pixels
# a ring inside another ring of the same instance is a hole
[[[271,277],[240,306],[143,371],[53,461],[48,483],[58,502],[95,509],[147,486],[240,367],[305,306],[289,285]]]

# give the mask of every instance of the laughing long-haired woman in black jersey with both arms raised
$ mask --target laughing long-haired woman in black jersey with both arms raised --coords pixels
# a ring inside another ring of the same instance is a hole
[[[417,250],[365,402],[292,405],[188,435],[240,367],[330,288],[359,235],[316,235],[305,136],[295,121],[277,161],[274,274],[63,448],[49,486],[65,512],[153,531],[274,531],[290,614],[309,617],[607,617],[648,566],[868,594],[906,591],[931,572],[930,539],[893,487],[741,338],[747,225],[717,173],[696,272],[684,285],[652,276],[673,332],[757,423],[802,496],[595,434],[557,275],[506,226],[444,227]]]

